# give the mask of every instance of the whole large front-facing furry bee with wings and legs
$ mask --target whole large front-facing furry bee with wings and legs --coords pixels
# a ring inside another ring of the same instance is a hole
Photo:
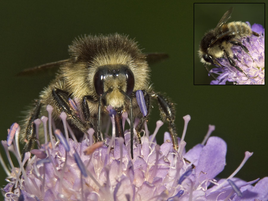
[[[69,46],[70,58],[44,64],[22,71],[30,74],[43,68],[60,67],[56,78],[40,93],[34,106],[29,110],[22,129],[21,140],[26,142],[23,153],[35,146],[35,124],[52,105],[53,117],[57,127],[62,125],[59,115],[65,112],[67,121],[79,140],[88,129],[93,128],[94,142],[101,141],[101,119],[108,117],[106,110],[110,105],[116,111],[116,137],[124,138],[122,113],[130,116],[131,157],[133,158],[133,117],[140,116],[136,133],[141,143],[140,132],[147,120],[152,98],[157,99],[160,115],[168,122],[174,149],[177,149],[177,133],[174,124],[175,107],[168,98],[156,93],[150,87],[150,68],[148,63],[167,57],[166,54],[143,54],[134,40],[125,35],[110,34],[84,36],[75,39]],[[148,113],[142,116],[136,99],[136,91],[142,90]],[[78,117],[69,99],[77,99],[82,117]],[[96,129],[95,129],[96,128]]]

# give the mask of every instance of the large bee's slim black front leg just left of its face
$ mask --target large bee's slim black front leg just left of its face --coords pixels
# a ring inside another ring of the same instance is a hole
[[[87,100],[89,100],[90,102],[93,102],[93,103],[96,103],[96,102],[94,101],[94,98],[92,96],[90,96],[90,95],[83,96],[83,98],[82,98],[82,112],[83,112],[84,119],[86,121],[87,127],[94,129],[94,125],[90,122],[90,117],[91,116],[90,116],[90,111],[89,111]],[[98,122],[98,123],[100,124],[100,122]],[[93,134],[94,143],[96,143],[97,141],[102,140],[102,138],[100,136],[100,127],[98,128],[98,133],[99,133],[99,136],[97,136],[96,131]]]

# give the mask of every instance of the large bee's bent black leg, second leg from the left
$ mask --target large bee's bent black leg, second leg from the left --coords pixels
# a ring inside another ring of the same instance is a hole
[[[69,105],[67,104],[67,101],[69,99],[69,95],[66,91],[63,91],[58,88],[52,89],[52,96],[54,100],[57,102],[57,105],[59,105],[59,108],[61,108],[61,111],[65,112],[67,115],[67,119],[71,121],[72,124],[74,124],[75,127],[77,127],[80,131],[83,133],[86,133],[88,129],[93,128],[92,124],[85,125],[77,116],[74,116],[72,114],[72,110],[70,109]],[[82,103],[83,105],[83,103]],[[86,106],[84,106],[86,107]],[[88,110],[89,111],[89,110]],[[86,111],[86,112],[88,112]],[[83,111],[84,113],[84,111]],[[84,114],[85,118],[88,117],[88,114]],[[86,119],[85,119],[86,120]],[[76,136],[77,137],[77,136]],[[94,137],[95,141],[95,137]]]

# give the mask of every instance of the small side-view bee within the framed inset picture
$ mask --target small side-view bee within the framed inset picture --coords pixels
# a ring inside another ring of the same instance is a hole
[[[205,64],[205,68],[214,79],[217,78],[209,71],[208,66],[210,64],[216,64],[223,68],[223,66],[216,60],[222,57],[226,57],[231,66],[245,74],[233,60],[233,51],[231,50],[231,47],[240,46],[244,52],[250,56],[248,49],[239,40],[252,34],[259,36],[258,33],[253,32],[250,26],[245,22],[239,21],[225,24],[231,18],[232,12],[233,7],[224,13],[215,29],[211,29],[205,33],[199,45],[198,54],[200,60]],[[253,60],[252,57],[251,59]],[[245,75],[247,76],[247,74]]]

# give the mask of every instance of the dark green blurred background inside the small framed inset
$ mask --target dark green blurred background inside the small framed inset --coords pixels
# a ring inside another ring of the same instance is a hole
[[[233,7],[231,21],[243,21],[264,26],[264,4],[194,4],[194,84],[209,85],[213,77],[200,62],[197,51],[200,40],[210,29],[214,29],[223,14]],[[209,66],[209,69],[215,66]],[[233,82],[228,82],[232,84]]]

